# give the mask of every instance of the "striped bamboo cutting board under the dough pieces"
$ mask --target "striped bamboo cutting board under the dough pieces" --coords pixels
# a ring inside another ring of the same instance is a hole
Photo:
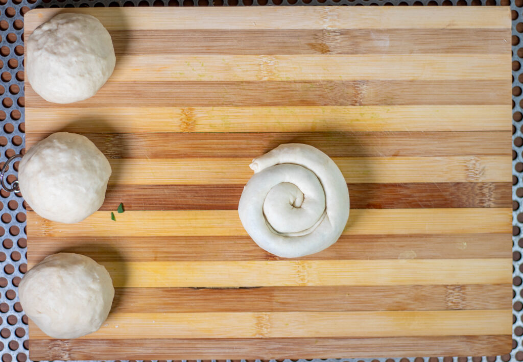
[[[88,255],[116,297],[77,340],[30,324],[31,359],[510,350],[508,7],[37,9],[26,39],[62,11],[103,22],[116,69],[69,105],[26,83],[27,146],[82,133],[113,173],[81,223],[28,212],[29,266]],[[251,159],[287,142],[331,156],[351,197],[339,241],[300,259],[236,211]]]

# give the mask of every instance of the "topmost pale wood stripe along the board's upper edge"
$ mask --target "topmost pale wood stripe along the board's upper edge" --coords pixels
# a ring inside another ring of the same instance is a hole
[[[252,12],[236,8],[105,8],[35,9],[25,23],[34,30],[55,14],[75,12],[96,16],[110,30],[192,29],[510,29],[510,10],[488,8],[395,8],[358,9],[325,6],[265,7]],[[290,21],[292,19],[292,21]],[[481,22],[478,22],[481,19]],[[377,26],[378,25],[378,26]]]

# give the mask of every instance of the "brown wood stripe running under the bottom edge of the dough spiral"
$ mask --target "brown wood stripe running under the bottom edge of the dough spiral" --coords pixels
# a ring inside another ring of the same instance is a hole
[[[31,263],[38,263],[44,257],[58,252],[84,254],[97,262],[285,259],[267,253],[248,236],[151,236],[144,239],[141,236],[45,237],[31,234],[29,237]],[[337,243],[324,251],[299,259],[468,259],[510,256],[511,238],[504,233],[380,235],[380,230],[376,230],[376,235],[342,235]]]

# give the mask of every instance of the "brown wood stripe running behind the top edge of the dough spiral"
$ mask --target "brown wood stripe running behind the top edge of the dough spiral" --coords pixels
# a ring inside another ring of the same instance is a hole
[[[82,134],[109,159],[254,158],[282,143],[310,144],[331,157],[509,156],[512,137],[510,131]],[[48,135],[31,133],[26,141],[32,145]]]

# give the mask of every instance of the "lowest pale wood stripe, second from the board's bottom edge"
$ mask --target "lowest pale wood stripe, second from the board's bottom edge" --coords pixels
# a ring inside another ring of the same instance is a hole
[[[88,339],[389,337],[508,334],[511,311],[118,313]],[[47,339],[32,325],[31,338]],[[118,333],[115,330],[118,329]]]

